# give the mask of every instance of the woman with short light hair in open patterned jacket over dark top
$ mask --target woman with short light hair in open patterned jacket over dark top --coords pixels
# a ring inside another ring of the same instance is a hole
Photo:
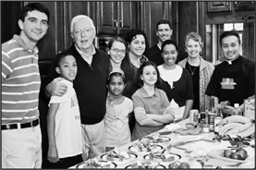
[[[189,57],[178,63],[179,66],[189,70],[194,88],[192,109],[197,109],[200,112],[209,109],[210,97],[205,95],[205,91],[214,70],[213,65],[201,57],[202,47],[201,36],[196,32],[190,32],[185,37],[185,48]]]

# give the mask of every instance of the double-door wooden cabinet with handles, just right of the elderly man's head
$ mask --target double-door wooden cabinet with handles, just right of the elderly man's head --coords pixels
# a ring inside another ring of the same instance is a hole
[[[125,34],[135,28],[136,2],[97,2],[97,34]]]

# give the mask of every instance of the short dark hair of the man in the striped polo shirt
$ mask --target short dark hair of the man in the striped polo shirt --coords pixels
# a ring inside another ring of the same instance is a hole
[[[21,15],[20,15],[20,19],[24,22],[25,18],[28,15],[28,12],[33,11],[33,10],[38,10],[40,12],[43,12],[47,18],[48,18],[48,24],[50,21],[50,12],[49,9],[46,6],[43,6],[40,3],[30,3],[27,6],[24,6],[21,10]]]

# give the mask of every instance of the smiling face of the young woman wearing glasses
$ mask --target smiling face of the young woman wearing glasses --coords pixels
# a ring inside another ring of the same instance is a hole
[[[119,52],[116,53],[116,50]],[[114,42],[108,53],[110,55],[111,62],[121,64],[126,55],[126,45],[122,42]]]

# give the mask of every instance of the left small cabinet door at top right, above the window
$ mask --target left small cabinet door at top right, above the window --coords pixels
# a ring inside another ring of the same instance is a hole
[[[231,2],[214,1],[207,2],[207,12],[231,11]]]

